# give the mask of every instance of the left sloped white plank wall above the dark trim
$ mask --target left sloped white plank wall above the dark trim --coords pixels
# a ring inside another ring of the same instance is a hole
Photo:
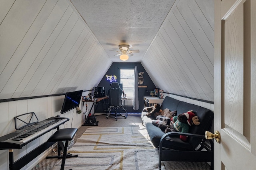
[[[98,85],[112,61],[68,0],[0,6],[0,99]]]

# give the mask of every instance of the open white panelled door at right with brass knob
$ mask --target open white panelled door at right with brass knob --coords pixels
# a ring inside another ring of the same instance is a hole
[[[256,170],[256,0],[215,1],[215,170]]]

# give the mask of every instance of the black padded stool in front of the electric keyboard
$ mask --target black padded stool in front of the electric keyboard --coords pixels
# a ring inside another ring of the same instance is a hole
[[[68,141],[71,141],[75,137],[77,130],[78,130],[77,128],[59,129],[54,134],[52,134],[52,136],[47,141],[47,142],[65,141],[60,170],[64,170],[66,156],[67,156],[67,152],[68,152]],[[77,157],[77,156],[75,156],[75,157]]]

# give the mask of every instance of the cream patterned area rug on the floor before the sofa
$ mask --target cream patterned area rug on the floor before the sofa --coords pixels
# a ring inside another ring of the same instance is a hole
[[[78,157],[67,158],[65,170],[158,170],[158,150],[143,126],[89,127],[68,152]]]

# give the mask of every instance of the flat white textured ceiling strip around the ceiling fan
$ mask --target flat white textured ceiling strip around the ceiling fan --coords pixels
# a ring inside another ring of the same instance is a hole
[[[130,45],[127,62],[140,62],[175,0],[70,0],[113,62],[118,45]]]

